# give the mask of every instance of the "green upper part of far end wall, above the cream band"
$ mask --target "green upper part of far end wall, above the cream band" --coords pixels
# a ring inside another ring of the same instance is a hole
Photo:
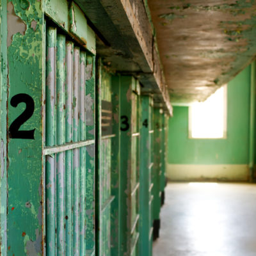
[[[250,66],[228,83],[227,97],[227,139],[189,139],[188,107],[173,108],[168,164],[248,164]]]

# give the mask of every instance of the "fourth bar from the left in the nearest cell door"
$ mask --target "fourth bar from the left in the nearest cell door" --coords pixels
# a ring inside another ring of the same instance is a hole
[[[73,63],[73,141],[78,141],[79,108],[79,56],[78,47],[74,48]],[[79,149],[73,150],[73,255],[79,255]]]

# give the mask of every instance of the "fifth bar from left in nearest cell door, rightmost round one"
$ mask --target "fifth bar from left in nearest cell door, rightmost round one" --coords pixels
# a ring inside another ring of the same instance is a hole
[[[79,140],[85,140],[85,63],[86,54],[80,54],[79,84]],[[85,148],[80,148],[80,255],[85,255]]]

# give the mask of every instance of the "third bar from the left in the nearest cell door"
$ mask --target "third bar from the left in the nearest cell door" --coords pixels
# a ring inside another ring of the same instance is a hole
[[[72,142],[72,84],[73,84],[73,44],[66,43],[66,116],[65,141]],[[65,226],[66,255],[72,255],[72,150],[65,153]]]

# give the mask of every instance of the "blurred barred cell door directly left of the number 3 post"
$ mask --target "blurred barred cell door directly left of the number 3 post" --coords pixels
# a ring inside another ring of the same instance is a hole
[[[118,237],[118,214],[115,214],[116,220],[112,217],[112,213],[118,210],[118,192],[114,191],[118,189],[114,176],[119,172],[118,120],[116,116],[114,118],[115,114],[118,118],[118,93],[115,93],[112,76],[105,70],[101,60],[98,70],[97,255],[108,256],[113,251],[118,255],[118,243],[114,241],[118,241],[115,239]],[[114,99],[115,95],[117,99]]]

